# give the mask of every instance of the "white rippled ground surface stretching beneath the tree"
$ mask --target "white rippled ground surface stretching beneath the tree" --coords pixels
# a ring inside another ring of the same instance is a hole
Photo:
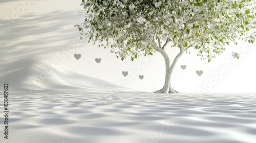
[[[256,94],[11,94],[9,102],[5,143],[256,141]]]

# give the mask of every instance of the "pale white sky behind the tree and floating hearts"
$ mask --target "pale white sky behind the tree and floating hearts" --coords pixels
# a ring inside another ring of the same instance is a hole
[[[61,67],[112,83],[121,83],[130,88],[146,91],[161,88],[165,65],[160,54],[147,57],[147,60],[141,57],[134,62],[130,59],[121,61],[110,53],[110,49],[96,48],[84,39],[82,43],[77,44],[78,48],[75,51],[68,51],[68,46],[76,39],[75,35],[79,34],[74,25],[82,21],[82,17],[79,17],[77,12],[82,10],[80,2],[80,0],[35,1],[24,5],[25,3],[19,1],[1,1],[1,37],[3,38],[0,44],[4,45],[1,49],[12,47],[6,56],[10,54],[17,57],[20,54],[28,54],[26,52],[29,50],[30,54],[27,57],[33,57],[33,60],[49,62],[57,60]],[[5,19],[13,17],[17,19],[7,27]],[[175,67],[172,81],[175,89],[181,92],[197,92],[198,88],[207,92],[256,92],[255,44],[245,42],[239,42],[238,45],[230,44],[225,53],[210,63],[206,60],[201,61],[196,56],[196,51],[190,51],[192,54],[184,54]],[[240,53],[240,60],[234,59],[231,56],[232,52]],[[82,55],[78,61],[74,58],[75,53]],[[174,59],[178,51],[171,49],[168,53]],[[97,64],[95,58],[101,58],[102,61]],[[186,69],[181,69],[181,65],[186,65]],[[226,67],[226,73],[221,72],[223,66]],[[199,77],[196,70],[203,70],[203,75]],[[124,78],[122,71],[129,71],[129,75]],[[213,74],[217,71],[222,74],[219,79]],[[139,75],[144,75],[144,79],[140,80]],[[207,82],[214,83],[206,85]]]

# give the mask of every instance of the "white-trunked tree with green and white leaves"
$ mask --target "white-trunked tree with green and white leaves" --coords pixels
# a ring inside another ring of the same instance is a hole
[[[176,93],[171,76],[177,60],[193,47],[201,59],[223,53],[237,40],[255,41],[254,0],[82,0],[81,38],[110,47],[121,60],[159,52],[165,61],[160,93]],[[171,63],[166,48],[178,48]]]

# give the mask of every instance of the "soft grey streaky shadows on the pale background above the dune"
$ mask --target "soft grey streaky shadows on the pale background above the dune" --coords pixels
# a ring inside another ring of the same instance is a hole
[[[31,68],[51,55],[56,56],[57,52],[72,44],[75,34],[79,35],[74,27],[79,17],[77,11],[55,11],[44,15],[31,13],[20,16],[10,27],[1,19],[0,81],[19,75],[13,82],[23,82],[20,81],[25,80],[22,77],[31,73],[20,70]]]

